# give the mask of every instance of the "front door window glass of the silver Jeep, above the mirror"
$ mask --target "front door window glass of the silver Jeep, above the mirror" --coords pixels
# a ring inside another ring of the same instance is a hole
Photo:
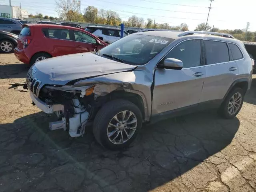
[[[183,62],[183,68],[200,66],[201,41],[187,40],[174,47],[165,57],[175,58]]]

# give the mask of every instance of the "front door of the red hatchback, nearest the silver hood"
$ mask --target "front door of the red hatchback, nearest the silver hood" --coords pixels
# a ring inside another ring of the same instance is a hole
[[[73,30],[76,53],[91,52],[98,49],[97,40],[92,36]],[[99,47],[102,48],[102,47]]]

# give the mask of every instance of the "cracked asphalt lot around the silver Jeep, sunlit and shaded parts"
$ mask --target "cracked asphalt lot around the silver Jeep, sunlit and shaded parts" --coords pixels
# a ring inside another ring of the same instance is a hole
[[[90,129],[81,138],[50,131],[56,117],[20,86],[27,70],[0,54],[0,192],[256,191],[256,75],[236,118],[206,111],[160,121],[113,152]]]

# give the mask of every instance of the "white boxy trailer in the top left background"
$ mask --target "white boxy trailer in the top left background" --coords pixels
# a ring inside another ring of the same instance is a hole
[[[0,17],[6,18],[28,18],[28,11],[18,6],[0,5]]]

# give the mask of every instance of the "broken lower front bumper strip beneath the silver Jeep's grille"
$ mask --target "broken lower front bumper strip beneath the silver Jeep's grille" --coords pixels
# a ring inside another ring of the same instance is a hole
[[[46,103],[42,102],[40,99],[36,98],[32,92],[30,92],[30,97],[32,98],[34,104],[36,104],[36,106],[38,108],[40,108],[40,110],[42,110],[45,113],[51,114],[54,111],[61,111],[64,109],[64,106],[61,104],[56,104],[56,105],[47,105]]]

